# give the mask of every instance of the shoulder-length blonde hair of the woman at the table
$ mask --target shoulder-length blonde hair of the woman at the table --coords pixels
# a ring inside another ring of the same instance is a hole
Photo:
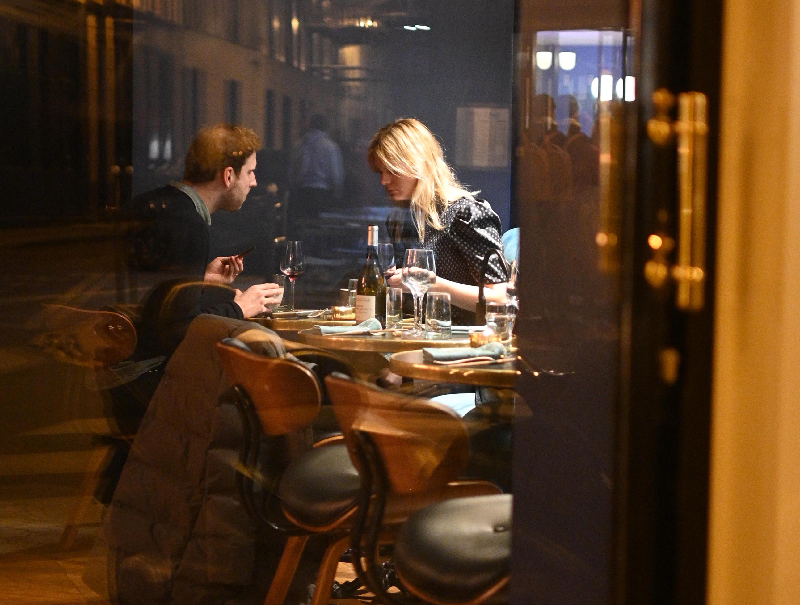
[[[443,229],[439,212],[463,197],[473,198],[478,191],[465,190],[447,166],[442,146],[425,124],[414,118],[400,118],[383,126],[372,138],[366,154],[375,172],[413,177],[417,186],[411,194],[411,218],[420,241],[427,225]]]

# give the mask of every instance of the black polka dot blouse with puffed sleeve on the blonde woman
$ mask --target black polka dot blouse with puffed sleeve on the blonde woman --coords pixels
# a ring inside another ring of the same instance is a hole
[[[502,253],[500,217],[484,199],[461,198],[439,214],[442,230],[426,226],[423,248],[434,250],[436,274],[452,282],[477,286],[487,250]],[[493,256],[486,271],[486,283],[505,282],[498,258]],[[453,306],[453,323],[470,326],[474,312]]]

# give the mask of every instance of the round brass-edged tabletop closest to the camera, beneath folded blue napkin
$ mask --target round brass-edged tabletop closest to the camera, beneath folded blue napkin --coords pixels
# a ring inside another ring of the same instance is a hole
[[[402,351],[389,358],[389,370],[406,378],[433,383],[472,384],[476,387],[514,388],[521,372],[514,360],[486,366],[440,366],[425,363],[422,350]]]

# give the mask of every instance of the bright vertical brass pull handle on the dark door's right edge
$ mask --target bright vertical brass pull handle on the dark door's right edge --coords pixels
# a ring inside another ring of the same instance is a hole
[[[698,92],[678,94],[678,119],[675,122],[670,122],[667,117],[674,102],[669,91],[660,89],[654,92],[653,102],[656,117],[647,125],[650,140],[658,146],[666,146],[672,134],[678,138],[678,264],[669,271],[677,283],[675,304],[682,311],[699,311],[705,304],[706,287],[706,95]],[[650,240],[653,238],[657,237],[651,235]],[[654,258],[646,263],[645,276],[652,286],[660,287],[666,277],[666,262],[663,254],[658,254],[661,246],[654,246],[651,241],[650,247],[654,250]]]

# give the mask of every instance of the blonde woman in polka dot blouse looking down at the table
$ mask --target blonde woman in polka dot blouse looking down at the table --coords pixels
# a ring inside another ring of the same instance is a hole
[[[367,159],[396,204],[408,203],[419,246],[434,250],[436,282],[430,292],[448,292],[453,323],[475,323],[478,278],[487,250],[502,252],[500,218],[489,202],[465,190],[447,166],[442,146],[427,127],[401,118],[375,134]],[[398,259],[400,260],[400,259]],[[506,299],[506,277],[497,257],[486,274],[487,301]],[[402,286],[398,270],[390,286]]]

